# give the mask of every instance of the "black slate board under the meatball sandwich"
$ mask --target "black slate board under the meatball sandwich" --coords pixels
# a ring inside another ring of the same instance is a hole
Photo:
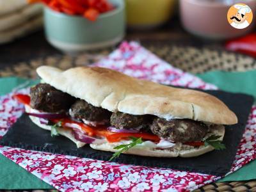
[[[225,175],[225,173],[229,172],[236,156],[237,147],[242,138],[246,121],[248,120],[248,115],[253,104],[253,97],[241,93],[222,91],[206,92],[225,102],[228,108],[234,111],[238,117],[238,124],[226,126],[226,133],[223,140],[223,143],[227,147],[226,150],[214,150],[202,156],[190,158],[158,158],[122,154],[119,158],[115,159],[115,162],[173,168],[176,170],[218,176]],[[49,131],[45,131],[33,124],[27,115],[22,115],[13,124],[7,134],[1,139],[0,145],[100,160],[108,160],[113,154],[111,152],[94,150],[88,145],[82,148],[76,148],[76,145],[72,141],[63,136],[52,138]]]

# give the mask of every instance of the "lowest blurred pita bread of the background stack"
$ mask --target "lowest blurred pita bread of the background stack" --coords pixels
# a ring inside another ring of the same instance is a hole
[[[28,35],[28,33],[32,33],[33,31],[42,28],[42,24],[43,17],[40,15],[31,20],[28,20],[28,22],[25,22],[20,26],[16,26],[10,30],[0,31],[0,44],[8,43],[12,40],[15,40],[16,38]]]

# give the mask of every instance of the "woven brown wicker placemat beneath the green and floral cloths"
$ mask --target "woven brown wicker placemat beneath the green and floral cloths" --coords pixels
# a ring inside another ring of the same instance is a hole
[[[168,63],[172,63],[174,67],[191,73],[202,73],[210,70],[241,72],[256,68],[256,60],[250,56],[224,51],[220,47],[193,47],[189,45],[184,46],[167,43],[145,43],[143,45],[150,51],[157,54],[160,58],[163,58],[163,60]],[[89,65],[90,63],[94,63],[108,55],[112,50],[113,48],[104,49],[93,53],[80,54],[78,56],[52,54],[33,60],[21,61],[19,63],[15,63],[15,65],[2,68],[0,70],[0,77],[19,76],[35,78],[35,69],[40,65],[50,65],[62,69]],[[256,180],[241,182],[213,182],[197,189],[196,191],[256,191]]]

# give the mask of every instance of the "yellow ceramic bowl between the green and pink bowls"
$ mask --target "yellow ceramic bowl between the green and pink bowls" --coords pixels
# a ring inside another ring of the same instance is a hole
[[[130,29],[156,28],[173,15],[177,0],[125,0]]]

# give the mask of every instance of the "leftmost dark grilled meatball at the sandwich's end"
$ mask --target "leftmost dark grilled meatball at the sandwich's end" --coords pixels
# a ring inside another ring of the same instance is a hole
[[[56,88],[46,83],[31,87],[30,97],[31,108],[50,113],[67,111],[75,101],[75,98],[71,95],[56,90]]]

